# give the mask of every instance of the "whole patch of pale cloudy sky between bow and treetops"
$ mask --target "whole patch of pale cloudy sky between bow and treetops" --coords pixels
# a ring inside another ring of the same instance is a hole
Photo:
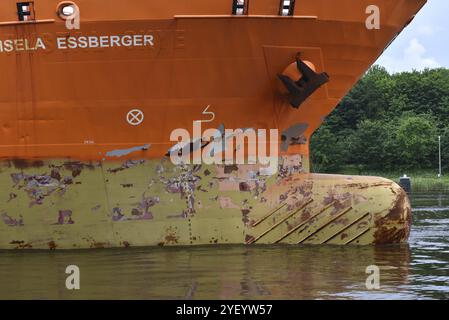
[[[449,0],[427,0],[377,64],[390,72],[449,68]]]

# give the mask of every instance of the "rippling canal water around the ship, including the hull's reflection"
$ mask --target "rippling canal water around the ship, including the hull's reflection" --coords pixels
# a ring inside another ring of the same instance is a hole
[[[0,252],[0,299],[449,299],[449,195],[415,194],[407,246]],[[68,291],[77,265],[81,289]],[[366,268],[380,269],[380,289]]]

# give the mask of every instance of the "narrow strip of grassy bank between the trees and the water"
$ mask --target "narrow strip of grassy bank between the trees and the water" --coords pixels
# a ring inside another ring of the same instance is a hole
[[[362,176],[376,176],[384,177],[399,183],[400,177],[406,174],[412,179],[413,192],[448,192],[449,193],[449,172],[438,178],[438,172],[430,170],[421,171],[396,171],[396,172],[382,172],[370,170],[358,170],[357,168],[348,167],[340,172],[340,174],[362,175]]]

